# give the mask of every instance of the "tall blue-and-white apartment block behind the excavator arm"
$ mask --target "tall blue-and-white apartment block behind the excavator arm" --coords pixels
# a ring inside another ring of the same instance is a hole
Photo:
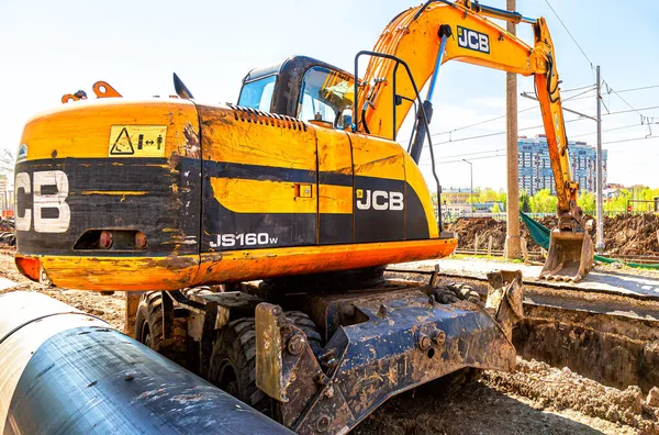
[[[520,189],[526,190],[528,194],[535,194],[538,190],[549,189],[556,194],[554,172],[547,149],[547,137],[538,134],[536,137],[520,137],[518,142],[520,163]],[[589,146],[585,142],[570,141],[568,143],[568,155],[572,179],[579,182],[580,190],[594,192],[596,187],[596,148]],[[602,150],[602,183],[606,183],[606,149]]]

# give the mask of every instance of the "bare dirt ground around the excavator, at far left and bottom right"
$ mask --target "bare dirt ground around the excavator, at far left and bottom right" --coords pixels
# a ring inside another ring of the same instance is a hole
[[[0,277],[18,283],[0,290],[40,291],[96,314],[123,331],[121,293],[43,288],[23,278],[13,249],[0,248]],[[646,404],[636,387],[618,390],[518,358],[514,373],[487,371],[478,382],[445,395],[437,383],[389,400],[354,430],[355,434],[659,434],[659,409]]]

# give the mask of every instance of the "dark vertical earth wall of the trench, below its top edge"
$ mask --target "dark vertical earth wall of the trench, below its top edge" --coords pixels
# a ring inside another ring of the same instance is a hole
[[[659,384],[657,321],[549,306],[525,306],[513,333],[517,353],[569,367],[605,386],[644,392]]]

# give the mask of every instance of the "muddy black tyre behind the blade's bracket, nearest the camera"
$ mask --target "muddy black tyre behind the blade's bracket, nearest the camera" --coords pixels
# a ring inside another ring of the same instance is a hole
[[[321,349],[321,335],[309,316],[300,311],[286,313],[306,334],[311,348]],[[208,380],[266,415],[272,414],[272,399],[256,387],[256,333],[254,317],[230,322],[217,334]]]

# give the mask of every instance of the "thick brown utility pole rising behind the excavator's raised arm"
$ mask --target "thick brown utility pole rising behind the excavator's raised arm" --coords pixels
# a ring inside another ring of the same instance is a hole
[[[515,0],[505,0],[505,8],[514,12]],[[506,22],[505,30],[515,35],[515,24]],[[520,245],[520,179],[517,161],[517,76],[512,72],[505,75],[505,109],[506,109],[506,155],[507,155],[507,226],[505,236],[505,252],[507,258],[521,257]]]

